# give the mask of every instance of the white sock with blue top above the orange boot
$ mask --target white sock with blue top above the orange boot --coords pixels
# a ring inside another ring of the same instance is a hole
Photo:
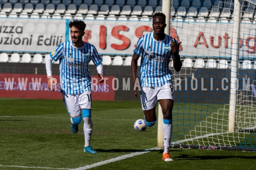
[[[169,153],[172,139],[172,121],[164,119],[164,153]]]

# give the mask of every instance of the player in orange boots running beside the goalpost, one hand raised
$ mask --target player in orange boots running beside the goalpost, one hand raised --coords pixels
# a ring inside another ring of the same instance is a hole
[[[164,161],[173,161],[170,158],[170,144],[172,138],[172,107],[173,87],[172,72],[169,69],[172,57],[174,69],[179,72],[182,66],[179,55],[180,43],[166,35],[166,16],[156,12],[152,16],[153,32],[140,37],[131,61],[133,95],[138,97],[136,90],[141,90],[142,110],[148,127],[156,123],[156,104],[160,103],[164,118]],[[142,54],[140,63],[140,85],[136,81],[138,59]]]

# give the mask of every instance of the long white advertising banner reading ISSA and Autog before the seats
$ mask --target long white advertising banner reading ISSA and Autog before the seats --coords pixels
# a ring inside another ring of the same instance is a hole
[[[152,32],[151,21],[84,20],[84,41],[102,55],[132,55],[138,38]],[[0,51],[50,53],[70,40],[69,20],[0,18]],[[180,55],[231,57],[232,23],[172,22]],[[254,58],[256,25],[241,24],[240,57]]]

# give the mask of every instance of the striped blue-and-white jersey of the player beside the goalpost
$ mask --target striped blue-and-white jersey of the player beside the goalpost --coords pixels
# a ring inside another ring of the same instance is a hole
[[[171,83],[172,72],[169,69],[172,49],[172,37],[165,34],[165,39],[156,41],[154,32],[138,39],[134,53],[142,54],[140,62],[140,86],[155,87]]]

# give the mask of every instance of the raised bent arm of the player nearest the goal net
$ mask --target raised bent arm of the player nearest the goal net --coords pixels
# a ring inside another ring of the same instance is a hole
[[[177,43],[175,38],[173,38],[172,41],[170,42],[170,47],[172,49],[173,67],[177,72],[180,71],[180,68],[182,66],[182,62],[180,61],[180,55],[179,55],[180,43]]]

